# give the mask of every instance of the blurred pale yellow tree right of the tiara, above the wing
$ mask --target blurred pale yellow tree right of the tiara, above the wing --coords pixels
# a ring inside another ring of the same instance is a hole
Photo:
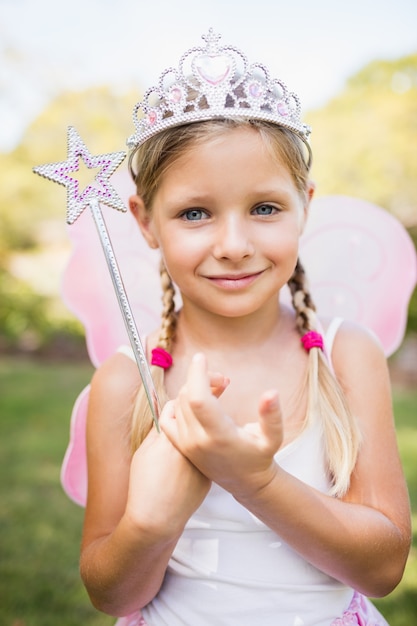
[[[320,195],[364,198],[417,223],[417,54],[370,63],[307,118]]]

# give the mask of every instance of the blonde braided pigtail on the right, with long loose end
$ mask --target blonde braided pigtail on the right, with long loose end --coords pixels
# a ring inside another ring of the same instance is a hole
[[[307,289],[304,268],[298,260],[288,281],[300,335],[317,330],[315,306]],[[323,423],[327,465],[332,479],[331,495],[342,496],[349,488],[360,445],[360,432],[344,393],[318,347],[309,350],[305,425],[317,415]]]

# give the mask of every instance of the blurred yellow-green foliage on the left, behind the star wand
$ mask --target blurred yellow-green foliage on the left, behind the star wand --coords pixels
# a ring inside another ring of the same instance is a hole
[[[0,186],[0,346],[33,350],[55,343],[62,349],[65,344],[67,352],[71,337],[73,345],[79,345],[80,324],[57,319],[53,299],[37,294],[10,273],[8,258],[12,252],[42,245],[39,232],[44,221],[65,220],[65,188],[36,176],[32,168],[66,159],[68,125],[77,128],[92,153],[123,149],[132,132],[126,111],[138,98],[138,93],[116,95],[104,87],[63,93],[35,120],[15,150],[0,154],[0,167],[7,172]]]

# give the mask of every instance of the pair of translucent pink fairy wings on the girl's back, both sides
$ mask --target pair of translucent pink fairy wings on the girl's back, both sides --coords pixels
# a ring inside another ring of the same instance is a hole
[[[125,200],[127,174],[112,183]],[[160,320],[159,253],[150,250],[130,213],[103,207],[105,221],[138,330],[149,333]],[[73,254],[63,281],[63,298],[86,329],[92,363],[98,366],[128,343],[95,225],[84,212],[69,227]],[[341,316],[371,328],[387,355],[401,343],[410,295],[416,284],[416,252],[404,227],[368,202],[344,196],[314,200],[300,256],[319,314]],[[87,387],[71,418],[70,443],[61,481],[76,503],[87,494],[85,420]]]

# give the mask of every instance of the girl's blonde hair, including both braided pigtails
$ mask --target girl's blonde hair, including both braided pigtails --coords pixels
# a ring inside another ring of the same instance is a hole
[[[152,211],[153,195],[166,170],[191,146],[238,127],[253,128],[259,132],[271,157],[284,163],[291,173],[294,184],[307,200],[308,168],[301,140],[291,131],[275,124],[248,120],[210,120],[163,131],[146,141],[137,152],[136,187],[147,210]],[[164,265],[161,265],[163,310],[158,346],[171,351],[175,340],[177,313],[174,306],[175,290]],[[307,287],[304,269],[297,262],[288,285],[296,312],[296,324],[300,335],[317,330],[315,306]],[[328,473],[332,482],[330,494],[342,496],[349,488],[350,476],[356,463],[360,445],[360,433],[351,415],[343,391],[322,351],[313,348],[309,352],[305,380],[308,406],[304,422],[306,427],[320,416],[325,441]],[[152,366],[152,376],[161,404],[166,402],[164,370]],[[146,394],[139,389],[132,417],[131,442],[135,450],[152,426],[152,418]]]

